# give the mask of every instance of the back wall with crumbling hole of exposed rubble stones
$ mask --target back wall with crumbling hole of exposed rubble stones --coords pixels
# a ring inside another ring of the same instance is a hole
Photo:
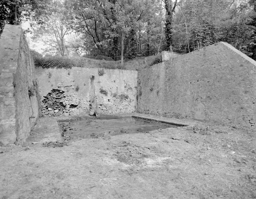
[[[38,67],[36,75],[44,115],[89,115],[92,109],[96,115],[136,111],[135,70]]]

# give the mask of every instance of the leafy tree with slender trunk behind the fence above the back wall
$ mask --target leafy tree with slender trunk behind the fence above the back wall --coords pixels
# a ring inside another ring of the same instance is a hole
[[[87,40],[84,44],[90,47],[90,54],[102,54],[117,60],[134,58],[142,50],[141,42],[146,41],[145,29],[149,28],[147,21],[153,21],[152,29],[159,26],[159,21],[154,19],[154,14],[158,12],[155,5],[159,2],[161,1],[74,0],[65,3],[69,8],[69,26],[85,35]],[[156,18],[159,19],[159,16]],[[159,28],[155,28],[152,34],[157,31],[161,34]],[[157,38],[154,42],[156,41]],[[150,44],[155,44],[154,42]]]

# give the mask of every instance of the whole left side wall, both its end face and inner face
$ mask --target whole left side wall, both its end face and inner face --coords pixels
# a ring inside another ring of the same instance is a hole
[[[38,117],[34,62],[19,26],[0,38],[0,141],[23,144]],[[30,93],[30,94],[29,94]]]

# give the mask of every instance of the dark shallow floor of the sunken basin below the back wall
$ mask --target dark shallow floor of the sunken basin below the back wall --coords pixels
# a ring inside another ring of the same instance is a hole
[[[62,130],[62,136],[66,138],[100,138],[124,133],[148,133],[157,129],[179,127],[156,120],[134,117],[66,121],[59,122],[59,126]]]

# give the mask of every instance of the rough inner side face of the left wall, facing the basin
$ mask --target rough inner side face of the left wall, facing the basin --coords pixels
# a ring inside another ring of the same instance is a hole
[[[38,118],[35,65],[23,32],[19,40],[18,67],[13,84],[16,101],[16,143],[23,144]]]

